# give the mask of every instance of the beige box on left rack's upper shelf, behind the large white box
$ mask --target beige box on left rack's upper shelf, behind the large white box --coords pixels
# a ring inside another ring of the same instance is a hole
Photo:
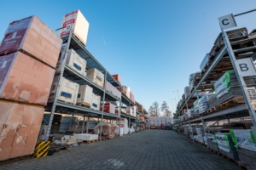
[[[96,70],[96,68],[89,69],[86,76],[91,82],[96,83],[98,86],[104,86],[104,75],[101,71]]]

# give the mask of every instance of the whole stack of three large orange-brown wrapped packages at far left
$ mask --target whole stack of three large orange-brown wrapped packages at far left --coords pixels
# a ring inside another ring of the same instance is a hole
[[[0,161],[33,153],[61,43],[37,16],[9,24],[0,45]]]

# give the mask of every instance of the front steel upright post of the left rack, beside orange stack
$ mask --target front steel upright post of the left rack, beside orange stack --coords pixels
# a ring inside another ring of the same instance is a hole
[[[64,64],[66,63],[66,60],[67,60],[67,53],[68,53],[67,51],[68,51],[68,48],[69,48],[69,44],[71,42],[72,35],[73,35],[73,32],[70,31],[69,36],[67,38],[67,47],[65,49],[65,55],[64,55],[64,59],[63,59],[63,63]],[[49,140],[49,133],[50,133],[53,117],[55,115],[55,108],[56,108],[57,101],[58,101],[57,96],[59,96],[60,91],[61,91],[61,82],[62,82],[62,77],[63,77],[64,69],[65,69],[65,65],[63,65],[62,68],[61,68],[60,79],[59,79],[57,87],[55,87],[55,88],[57,88],[57,90],[56,90],[55,99],[54,99],[54,102],[52,104],[52,108],[51,108],[51,111],[50,111],[49,125],[48,125],[48,128],[47,128],[47,133],[46,133],[45,141]]]

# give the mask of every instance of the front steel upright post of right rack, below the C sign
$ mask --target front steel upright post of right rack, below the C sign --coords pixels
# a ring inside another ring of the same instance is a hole
[[[230,55],[230,60],[231,60],[231,63],[234,67],[234,71],[236,72],[236,77],[237,77],[237,80],[240,84],[240,87],[241,87],[241,92],[244,96],[244,99],[245,99],[245,103],[247,105],[247,110],[252,118],[252,122],[253,122],[253,127],[252,130],[253,130],[253,134],[256,136],[256,122],[255,122],[255,119],[256,119],[256,114],[255,114],[255,111],[253,110],[253,106],[251,105],[251,102],[250,102],[250,99],[248,97],[248,94],[247,94],[247,85],[246,83],[244,82],[243,80],[243,77],[241,77],[239,74],[238,74],[238,71],[237,71],[237,68],[236,68],[236,56],[234,54],[234,51],[233,51],[233,48],[231,47],[231,44],[230,44],[230,40],[229,40],[229,37],[227,36],[227,33],[221,29],[222,31],[222,36],[224,38],[224,42],[227,46],[227,50],[228,50],[228,53]]]

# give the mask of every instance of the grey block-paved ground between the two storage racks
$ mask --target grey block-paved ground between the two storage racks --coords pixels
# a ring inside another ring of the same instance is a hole
[[[147,130],[125,137],[61,150],[53,156],[15,161],[5,169],[239,169],[235,163],[183,135]]]

